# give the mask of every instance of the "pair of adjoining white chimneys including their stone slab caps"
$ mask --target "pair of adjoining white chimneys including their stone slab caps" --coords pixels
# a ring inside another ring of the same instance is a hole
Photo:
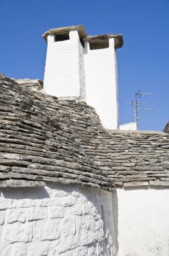
[[[48,30],[44,90],[57,97],[80,97],[93,106],[103,127],[119,129],[117,48],[123,36],[87,36],[84,26]]]

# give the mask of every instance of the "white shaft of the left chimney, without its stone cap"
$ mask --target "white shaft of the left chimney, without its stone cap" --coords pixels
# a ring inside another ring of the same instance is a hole
[[[83,56],[78,31],[70,30],[70,40],[54,42],[48,36],[44,91],[57,97],[80,96],[84,84]]]

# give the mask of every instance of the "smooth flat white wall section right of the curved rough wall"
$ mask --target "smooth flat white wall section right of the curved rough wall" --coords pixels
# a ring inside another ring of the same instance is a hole
[[[168,256],[169,189],[117,189],[117,197],[118,255]]]

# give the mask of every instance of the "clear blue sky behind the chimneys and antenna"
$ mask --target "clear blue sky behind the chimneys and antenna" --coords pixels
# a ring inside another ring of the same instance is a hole
[[[87,34],[123,34],[117,50],[120,123],[133,121],[135,92],[154,111],[139,112],[139,129],[162,131],[169,119],[169,0],[0,0],[0,73],[44,77],[49,28],[84,24]]]

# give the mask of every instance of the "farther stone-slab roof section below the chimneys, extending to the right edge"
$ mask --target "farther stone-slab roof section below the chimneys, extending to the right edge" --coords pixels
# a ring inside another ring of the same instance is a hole
[[[78,99],[35,95],[115,185],[169,185],[168,134],[106,130],[95,110]]]

